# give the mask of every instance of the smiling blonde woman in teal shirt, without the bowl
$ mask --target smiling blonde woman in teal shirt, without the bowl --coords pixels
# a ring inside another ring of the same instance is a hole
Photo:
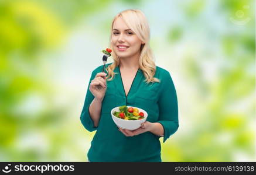
[[[114,62],[94,69],[80,120],[97,132],[88,151],[90,162],[161,162],[161,144],[178,127],[175,86],[165,69],[156,67],[149,48],[149,26],[141,10],[124,10],[112,21]],[[103,88],[98,89],[97,86]],[[134,131],[117,128],[111,109],[135,106],[148,113]]]

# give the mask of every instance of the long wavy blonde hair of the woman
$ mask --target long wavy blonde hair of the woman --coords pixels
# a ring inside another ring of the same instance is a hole
[[[132,31],[134,31],[136,36],[142,42],[145,43],[145,44],[141,44],[139,68],[142,70],[145,76],[146,83],[160,82],[159,79],[153,77],[156,72],[156,65],[155,65],[155,60],[153,58],[152,50],[149,46],[150,31],[149,31],[149,25],[144,13],[141,10],[137,10],[137,9],[128,9],[118,13],[112,20],[111,37],[112,37],[113,24],[115,22],[115,19],[117,19],[118,17],[122,17],[122,19],[127,24],[127,26]],[[111,44],[111,37],[110,37],[110,48],[113,48]],[[114,62],[108,65],[108,67],[106,68],[108,72],[107,81],[111,81],[114,78],[115,74],[117,74],[114,72],[114,69],[118,67],[120,64],[120,58],[114,53],[114,51],[111,53],[111,55]]]

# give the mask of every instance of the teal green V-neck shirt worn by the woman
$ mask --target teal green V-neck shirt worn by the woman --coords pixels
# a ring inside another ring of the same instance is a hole
[[[110,64],[106,67],[108,65]],[[94,69],[88,88],[95,75],[102,69],[103,65]],[[122,84],[120,68],[116,67],[114,72],[118,74],[115,74],[112,81],[107,81],[98,127],[94,127],[89,114],[89,106],[94,96],[87,89],[80,120],[88,131],[97,130],[87,154],[88,160],[90,162],[161,162],[160,136],[152,132],[125,136],[118,131],[117,125],[112,120],[111,110],[123,105],[144,109],[148,113],[147,121],[162,124],[163,142],[165,142],[179,127],[178,101],[169,72],[156,67],[154,77],[161,82],[146,84],[143,72],[138,69],[127,96]]]

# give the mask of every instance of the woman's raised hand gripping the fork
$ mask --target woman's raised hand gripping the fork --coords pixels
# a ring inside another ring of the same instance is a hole
[[[95,99],[100,101],[104,99],[107,90],[106,75],[107,74],[104,72],[100,72],[95,75],[95,78],[90,83],[90,92],[93,94]]]

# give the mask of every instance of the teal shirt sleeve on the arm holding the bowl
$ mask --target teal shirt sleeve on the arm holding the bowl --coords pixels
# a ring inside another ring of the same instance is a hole
[[[174,134],[179,128],[178,120],[178,100],[175,86],[170,74],[166,74],[162,79],[163,85],[159,95],[159,123],[164,129],[163,142]]]

